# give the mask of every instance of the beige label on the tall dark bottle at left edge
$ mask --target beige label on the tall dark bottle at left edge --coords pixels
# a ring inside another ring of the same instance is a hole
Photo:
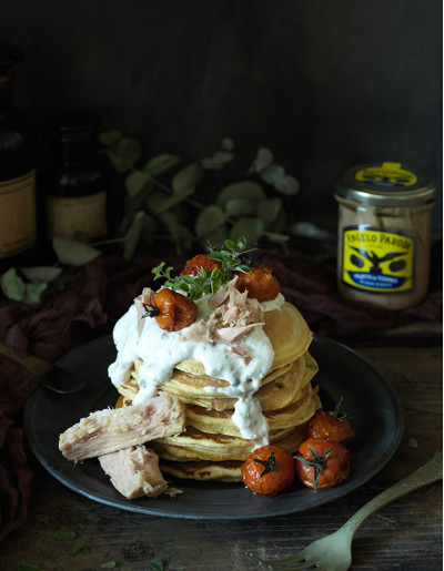
[[[0,182],[0,257],[36,242],[36,171]]]

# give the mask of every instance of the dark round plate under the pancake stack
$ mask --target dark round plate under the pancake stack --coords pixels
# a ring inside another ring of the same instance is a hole
[[[274,497],[256,496],[241,483],[173,480],[183,493],[171,499],[127,500],[109,482],[97,459],[75,465],[58,448],[59,435],[91,410],[113,406],[117,390],[108,378],[108,365],[114,360],[111,337],[79,347],[57,365],[83,377],[87,385],[73,395],[58,395],[37,389],[27,402],[24,429],[31,449],[43,467],[59,481],[91,500],[115,508],[193,519],[242,519],[283,516],[330,502],[370,480],[396,450],[403,414],[392,385],[369,361],[350,348],[322,337],[314,337],[310,353],[320,366],[315,379],[324,406],[341,396],[352,418],[355,438],[350,443],[352,469],[346,482],[337,488],[314,491],[299,482]]]

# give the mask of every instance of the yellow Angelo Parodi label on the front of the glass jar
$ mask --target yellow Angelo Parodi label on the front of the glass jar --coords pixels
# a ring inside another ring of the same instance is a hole
[[[343,232],[342,281],[366,292],[411,292],[415,256],[412,234],[365,224],[347,226]]]

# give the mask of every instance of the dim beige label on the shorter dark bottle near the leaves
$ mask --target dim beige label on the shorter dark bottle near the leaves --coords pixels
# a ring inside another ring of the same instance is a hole
[[[73,238],[77,232],[90,238],[107,234],[107,194],[100,192],[88,196],[48,196],[48,234]]]

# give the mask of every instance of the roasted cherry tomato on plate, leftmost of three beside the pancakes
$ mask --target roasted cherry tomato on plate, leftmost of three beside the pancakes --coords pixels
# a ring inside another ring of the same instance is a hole
[[[258,448],[241,466],[242,479],[251,491],[274,494],[292,483],[296,466],[291,452],[278,446]]]

